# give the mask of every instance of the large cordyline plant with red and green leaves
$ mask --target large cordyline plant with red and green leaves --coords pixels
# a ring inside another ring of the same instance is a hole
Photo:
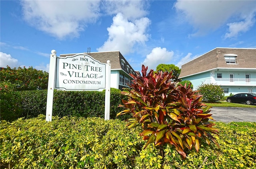
[[[128,100],[122,100],[125,108],[121,114],[132,114],[128,119],[128,128],[142,126],[140,136],[147,140],[144,148],[150,143],[157,145],[173,145],[183,159],[186,151],[195,147],[199,151],[200,141],[204,139],[210,145],[212,140],[218,143],[212,134],[218,134],[215,124],[209,122],[212,114],[211,106],[201,103],[202,95],[186,84],[175,87],[172,73],[160,71],[153,73],[142,65],[142,76],[135,76],[131,89],[122,91]],[[202,139],[201,139],[202,138]]]

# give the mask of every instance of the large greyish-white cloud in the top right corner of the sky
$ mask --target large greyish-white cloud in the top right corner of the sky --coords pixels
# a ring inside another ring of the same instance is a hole
[[[230,33],[225,37],[234,37],[254,24],[255,5],[256,2],[250,0],[178,0],[174,7],[196,29],[196,33],[192,35],[204,35],[227,24]],[[246,25],[242,26],[242,22]]]

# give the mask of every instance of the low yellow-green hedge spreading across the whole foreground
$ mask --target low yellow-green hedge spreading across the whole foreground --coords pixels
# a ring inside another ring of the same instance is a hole
[[[182,160],[169,145],[143,149],[141,128],[102,118],[45,116],[2,121],[0,167],[33,169],[255,169],[256,123],[216,122],[216,145],[201,145]]]

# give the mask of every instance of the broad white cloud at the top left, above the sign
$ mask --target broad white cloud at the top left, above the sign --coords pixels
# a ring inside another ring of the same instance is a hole
[[[26,0],[21,4],[26,22],[60,39],[79,36],[86,23],[100,15],[100,1]]]

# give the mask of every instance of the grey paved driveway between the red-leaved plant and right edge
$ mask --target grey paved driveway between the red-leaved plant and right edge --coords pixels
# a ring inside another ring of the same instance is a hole
[[[212,118],[217,122],[256,122],[255,108],[213,107]]]

